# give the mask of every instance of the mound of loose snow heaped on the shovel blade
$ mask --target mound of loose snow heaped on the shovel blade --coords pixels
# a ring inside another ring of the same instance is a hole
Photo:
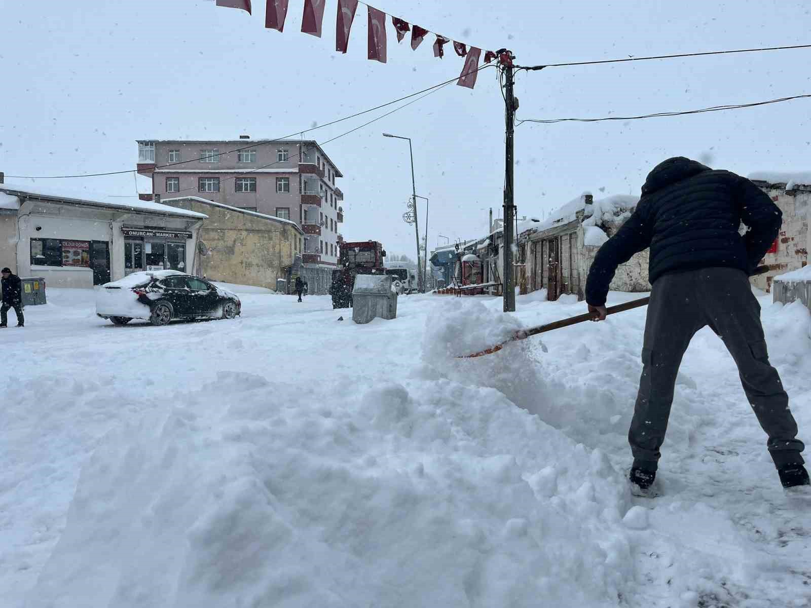
[[[476,300],[456,298],[443,314],[429,318],[423,338],[423,360],[442,365],[449,358],[464,357],[509,340],[521,321],[507,313],[493,312]]]

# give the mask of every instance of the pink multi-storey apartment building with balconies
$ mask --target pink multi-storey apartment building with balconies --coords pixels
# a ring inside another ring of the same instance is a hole
[[[295,221],[304,231],[303,266],[322,271],[304,274],[318,284],[337,264],[343,174],[315,141],[144,139],[138,173],[152,178],[161,200],[198,196]]]

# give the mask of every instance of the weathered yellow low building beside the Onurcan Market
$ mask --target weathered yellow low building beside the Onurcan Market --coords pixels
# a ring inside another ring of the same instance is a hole
[[[302,237],[295,226],[194,199],[168,204],[208,216],[200,228],[195,274],[267,289],[276,289],[276,280],[287,278],[285,271],[293,265]]]

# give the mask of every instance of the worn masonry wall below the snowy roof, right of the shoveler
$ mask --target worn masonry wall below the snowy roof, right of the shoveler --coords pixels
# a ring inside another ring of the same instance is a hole
[[[763,259],[769,266],[766,274],[753,276],[751,281],[759,289],[770,291],[775,276],[803,268],[808,261],[811,191],[786,191],[785,184],[757,182],[783,212],[783,225],[777,242],[777,252],[767,253]],[[801,186],[806,187],[806,186]]]

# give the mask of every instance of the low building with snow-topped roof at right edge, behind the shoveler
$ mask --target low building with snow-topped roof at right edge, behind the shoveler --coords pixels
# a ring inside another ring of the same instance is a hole
[[[749,179],[783,212],[779,236],[763,259],[769,272],[752,278],[753,285],[770,291],[775,276],[803,268],[808,263],[811,173],[759,172],[749,175]]]

